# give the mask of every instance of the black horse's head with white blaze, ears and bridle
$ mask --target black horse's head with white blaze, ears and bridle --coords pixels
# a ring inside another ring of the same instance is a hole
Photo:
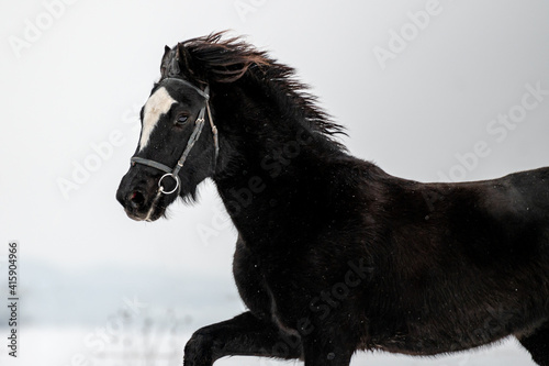
[[[161,78],[141,111],[137,148],[116,192],[134,220],[157,220],[177,197],[194,198],[197,186],[215,169],[219,144],[210,89],[190,79],[194,75],[183,54],[181,44],[166,46]]]

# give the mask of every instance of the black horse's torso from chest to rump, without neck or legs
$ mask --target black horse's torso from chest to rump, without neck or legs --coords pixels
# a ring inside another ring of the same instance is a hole
[[[549,169],[425,185],[346,155],[318,166],[298,176],[301,188],[272,189],[310,190],[306,200],[235,220],[235,278],[254,313],[295,330],[307,309],[325,318],[318,326],[333,329],[330,339],[422,355],[545,322]],[[250,212],[280,200],[264,193]]]

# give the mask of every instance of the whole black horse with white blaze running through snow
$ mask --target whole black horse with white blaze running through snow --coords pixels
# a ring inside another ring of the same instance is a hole
[[[211,178],[238,230],[249,311],[198,330],[184,365],[228,355],[348,365],[516,336],[549,365],[549,169],[462,184],[350,156],[292,68],[223,34],[166,47],[116,193],[154,221]],[[219,129],[219,131],[217,131]]]

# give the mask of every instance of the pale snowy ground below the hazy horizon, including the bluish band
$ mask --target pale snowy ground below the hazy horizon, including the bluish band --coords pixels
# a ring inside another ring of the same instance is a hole
[[[0,341],[1,366],[181,365],[183,345],[193,331],[245,310],[229,276],[200,277],[198,280],[191,274],[170,275],[145,268],[137,270],[105,266],[100,270],[68,273],[32,260],[25,262],[24,268],[18,358],[8,356],[9,329],[0,323],[0,340],[4,340]],[[2,288],[8,286],[0,277]],[[3,307],[0,308],[1,319],[8,319]],[[303,364],[258,357],[227,357],[215,365]],[[496,346],[437,358],[358,353],[351,365],[535,364],[511,339]]]

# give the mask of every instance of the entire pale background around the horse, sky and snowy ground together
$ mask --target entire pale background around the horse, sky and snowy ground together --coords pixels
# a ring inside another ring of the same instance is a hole
[[[426,8],[435,9],[428,21],[414,24],[410,14]],[[199,204],[173,204],[170,220],[155,223],[131,221],[114,199],[165,44],[221,30],[248,35],[296,68],[347,127],[341,141],[354,155],[410,179],[478,180],[549,165],[549,96],[504,137],[490,130],[500,114],[520,111],[523,98],[536,100],[524,97],[526,85],[549,90],[548,18],[542,0],[2,0],[2,365],[178,364],[193,330],[243,310],[231,275],[235,231],[211,182]],[[407,41],[399,44],[401,32]],[[380,63],[380,48],[392,58]],[[483,154],[472,157],[479,142]],[[16,359],[7,356],[3,304],[10,240],[20,246]],[[160,348],[169,356],[144,354]],[[244,362],[276,364],[217,364]],[[436,359],[354,359],[490,362],[531,365],[514,341]]]

